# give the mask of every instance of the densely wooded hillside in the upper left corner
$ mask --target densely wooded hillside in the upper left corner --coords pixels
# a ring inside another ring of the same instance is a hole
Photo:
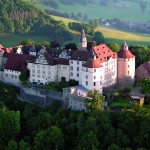
[[[48,35],[54,38],[63,37],[63,40],[72,39],[72,34],[62,22],[54,20],[22,0],[13,2],[1,0],[0,16],[0,33]]]

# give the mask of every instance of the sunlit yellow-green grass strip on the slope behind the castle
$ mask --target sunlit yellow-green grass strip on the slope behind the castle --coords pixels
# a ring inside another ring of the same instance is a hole
[[[75,22],[75,20],[52,16],[56,20],[62,20],[67,25],[69,22]],[[104,34],[106,41],[113,41],[121,43],[124,38],[129,44],[144,44],[148,45],[150,43],[150,36],[144,36],[139,34],[127,33],[119,30],[109,29],[105,27],[98,27],[95,31],[100,31]],[[74,31],[73,31],[74,32]],[[74,32],[79,34],[79,32]]]

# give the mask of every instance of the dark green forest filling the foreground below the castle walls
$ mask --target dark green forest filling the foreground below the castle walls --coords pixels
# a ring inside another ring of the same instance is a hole
[[[150,149],[150,109],[134,105],[118,112],[89,113],[41,108],[17,99],[19,90],[0,83],[0,149]]]

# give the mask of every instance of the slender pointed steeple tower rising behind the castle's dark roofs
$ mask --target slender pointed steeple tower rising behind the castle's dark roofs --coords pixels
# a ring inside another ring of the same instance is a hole
[[[79,38],[79,46],[78,46],[79,50],[87,50],[87,40],[86,40],[86,36],[85,36],[85,31],[82,28],[81,30],[81,36]]]

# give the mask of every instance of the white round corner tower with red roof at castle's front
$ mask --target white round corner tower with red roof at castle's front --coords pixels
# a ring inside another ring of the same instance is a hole
[[[99,90],[102,93],[103,67],[100,60],[96,58],[94,50],[89,54],[89,59],[83,66],[82,85],[89,90]]]

